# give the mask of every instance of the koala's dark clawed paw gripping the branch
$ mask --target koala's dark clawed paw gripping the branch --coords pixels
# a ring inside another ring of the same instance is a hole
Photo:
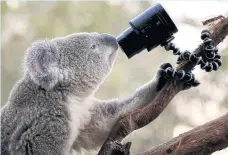
[[[191,72],[184,70],[174,70],[170,63],[163,63],[158,71],[158,85],[157,90],[161,90],[163,86],[170,80],[178,80],[183,82],[184,90],[190,87],[196,87],[200,84]]]

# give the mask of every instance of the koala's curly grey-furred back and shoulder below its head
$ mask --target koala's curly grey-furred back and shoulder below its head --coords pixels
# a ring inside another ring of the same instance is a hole
[[[56,95],[50,96],[33,83],[16,84],[1,111],[1,154],[54,155],[63,150],[69,133],[68,113]]]

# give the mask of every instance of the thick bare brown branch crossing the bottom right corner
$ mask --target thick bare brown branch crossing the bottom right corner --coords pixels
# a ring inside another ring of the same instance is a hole
[[[210,155],[228,146],[228,113],[137,155]]]

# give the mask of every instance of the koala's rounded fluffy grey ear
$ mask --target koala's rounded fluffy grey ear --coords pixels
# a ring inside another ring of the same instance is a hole
[[[52,89],[60,80],[59,51],[53,41],[34,42],[27,50],[25,67],[32,80],[44,89]]]

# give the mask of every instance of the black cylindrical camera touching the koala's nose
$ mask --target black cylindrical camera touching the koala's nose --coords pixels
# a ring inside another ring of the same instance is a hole
[[[156,4],[129,22],[130,26],[117,37],[120,48],[128,58],[145,48],[150,51],[171,41],[178,31],[161,4]]]

